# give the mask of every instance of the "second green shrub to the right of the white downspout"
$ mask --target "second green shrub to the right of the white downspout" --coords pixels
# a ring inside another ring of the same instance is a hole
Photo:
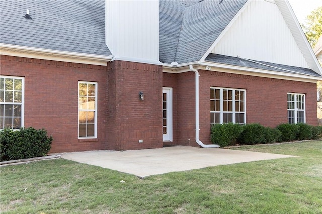
[[[266,143],[265,127],[260,124],[246,124],[237,141],[244,145]]]

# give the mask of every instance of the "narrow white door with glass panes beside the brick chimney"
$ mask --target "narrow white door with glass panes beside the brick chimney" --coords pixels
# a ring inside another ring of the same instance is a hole
[[[172,88],[162,88],[163,141],[172,141]]]

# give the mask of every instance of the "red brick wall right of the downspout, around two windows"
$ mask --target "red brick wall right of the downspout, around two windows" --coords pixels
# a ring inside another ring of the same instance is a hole
[[[200,140],[210,143],[210,87],[246,89],[246,121],[287,123],[287,93],[304,93],[306,123],[317,125],[316,84],[200,70]],[[179,125],[180,126],[180,125]]]

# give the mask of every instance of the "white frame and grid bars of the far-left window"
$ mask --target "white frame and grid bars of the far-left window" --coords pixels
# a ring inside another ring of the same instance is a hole
[[[25,77],[19,77],[19,76],[3,76],[3,75],[0,75],[0,78],[8,78],[8,79],[21,79],[21,102],[5,102],[5,99],[3,101],[0,101],[0,104],[2,105],[21,105],[21,117],[20,117],[20,127],[24,127],[24,122],[25,122]],[[5,94],[5,88],[4,88],[4,94]],[[14,91],[14,90],[13,90]],[[5,111],[5,108],[4,110]],[[4,120],[3,120],[3,124],[2,126],[5,125],[5,112],[3,112],[3,117],[2,117]],[[14,116],[12,116],[12,118],[14,118]],[[14,129],[14,130],[18,130],[18,129]]]

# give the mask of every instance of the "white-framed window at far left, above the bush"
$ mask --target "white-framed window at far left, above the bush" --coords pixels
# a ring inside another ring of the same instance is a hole
[[[24,126],[24,78],[0,76],[0,129]]]

